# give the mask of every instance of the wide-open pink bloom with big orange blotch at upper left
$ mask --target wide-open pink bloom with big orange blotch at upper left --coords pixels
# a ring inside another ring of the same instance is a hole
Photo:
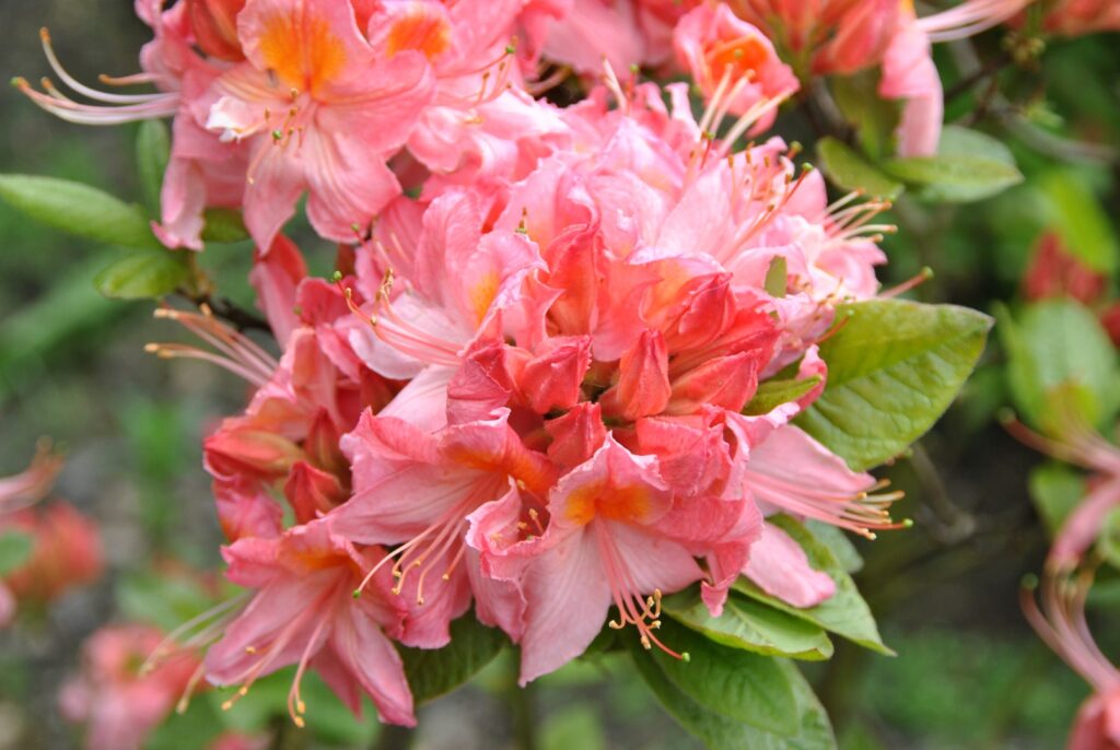
[[[245,225],[270,246],[306,190],[316,231],[352,240],[400,193],[385,160],[432,95],[423,56],[379,54],[348,0],[249,0],[237,37],[206,126],[249,143]]]

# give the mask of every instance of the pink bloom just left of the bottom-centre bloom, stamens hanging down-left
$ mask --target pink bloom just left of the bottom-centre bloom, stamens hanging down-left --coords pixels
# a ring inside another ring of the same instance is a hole
[[[354,496],[330,515],[333,527],[355,542],[400,545],[384,562],[392,559],[393,592],[407,588],[418,608],[404,624],[408,645],[444,646],[472,594],[479,620],[519,631],[516,592],[486,581],[464,544],[472,513],[514,486],[543,495],[553,481],[550,462],[525,448],[507,419],[497,413],[429,437],[399,419],[367,414],[343,439]]]

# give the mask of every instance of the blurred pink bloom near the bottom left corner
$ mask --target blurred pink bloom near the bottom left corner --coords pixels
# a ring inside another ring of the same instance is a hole
[[[198,663],[179,653],[153,669],[140,665],[164,635],[143,625],[108,626],[82,647],[76,676],[63,685],[63,715],[85,724],[88,750],[140,750],[192,684]]]

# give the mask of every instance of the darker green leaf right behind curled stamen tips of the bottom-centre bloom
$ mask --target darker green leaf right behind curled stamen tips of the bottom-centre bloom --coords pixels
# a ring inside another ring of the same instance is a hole
[[[672,619],[657,638],[685,658],[648,649],[665,678],[708,711],[784,737],[797,731],[797,712],[787,673],[776,659],[721,646]]]

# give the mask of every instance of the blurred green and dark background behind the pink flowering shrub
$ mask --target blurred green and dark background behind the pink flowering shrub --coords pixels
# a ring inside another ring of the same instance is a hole
[[[38,36],[44,24],[64,64],[86,81],[134,71],[147,40],[128,0],[0,0],[0,72],[32,81],[48,72]],[[1000,39],[991,32],[977,44],[983,54],[998,53]],[[1068,225],[1089,227],[1082,241],[1110,257],[1107,270],[1114,273],[1118,46],[1117,35],[1056,43],[1040,69],[1012,71],[1002,79],[1008,99],[989,102],[978,124],[1012,148],[1027,179],[978,204],[930,207],[904,198],[892,214],[900,232],[886,243],[886,282],[928,265],[936,276],[918,288],[920,299],[986,311],[1014,300],[1046,228],[1039,200],[1067,204]],[[952,72],[953,56],[967,51],[942,49],[941,62]],[[140,200],[134,126],[72,125],[15,88],[0,96],[0,171],[82,180]],[[949,116],[968,119],[976,103],[954,101]],[[1037,130],[1015,124],[1023,121]],[[1099,148],[1086,153],[1061,139]],[[1039,185],[1051,193],[1037,195]],[[329,263],[330,247],[304,247],[312,259],[320,251],[324,268]],[[94,290],[92,276],[119,252],[30,224],[0,204],[0,475],[26,466],[38,437],[63,443],[67,463],[56,494],[96,519],[108,557],[97,583],[0,631],[0,749],[77,747],[78,734],[58,718],[56,702],[83,639],[111,621],[175,626],[194,613],[199,589],[211,585],[190,571],[220,570],[200,438],[243,406],[245,387],[205,364],[144,354],[146,343],[179,332],[152,319],[151,303],[110,301]],[[208,251],[203,263],[224,296],[251,304],[248,246]],[[1110,285],[1114,292],[1114,279]],[[885,469],[907,493],[900,515],[917,523],[874,543],[857,542],[866,561],[857,582],[898,656],[838,641],[832,662],[806,667],[848,750],[1057,748],[1086,695],[1035,638],[1018,606],[1020,579],[1039,570],[1047,536],[1027,486],[1028,470],[1042,459],[996,419],[1009,403],[1004,359],[993,337],[950,414],[912,456]],[[1120,654],[1120,628],[1109,627],[1117,615],[1120,588],[1103,581],[1093,617],[1110,654]],[[427,706],[413,747],[505,746],[512,731],[503,702],[508,668],[500,659]],[[542,747],[694,747],[629,668],[625,659],[591,659],[540,681],[528,720]],[[377,741],[372,722],[348,720],[327,700],[309,703],[310,720],[333,729],[295,739],[287,732],[278,743]],[[252,706],[240,719],[216,713],[204,702],[158,732],[152,747],[202,747],[222,721],[269,721]],[[399,741],[384,738],[382,746]]]

